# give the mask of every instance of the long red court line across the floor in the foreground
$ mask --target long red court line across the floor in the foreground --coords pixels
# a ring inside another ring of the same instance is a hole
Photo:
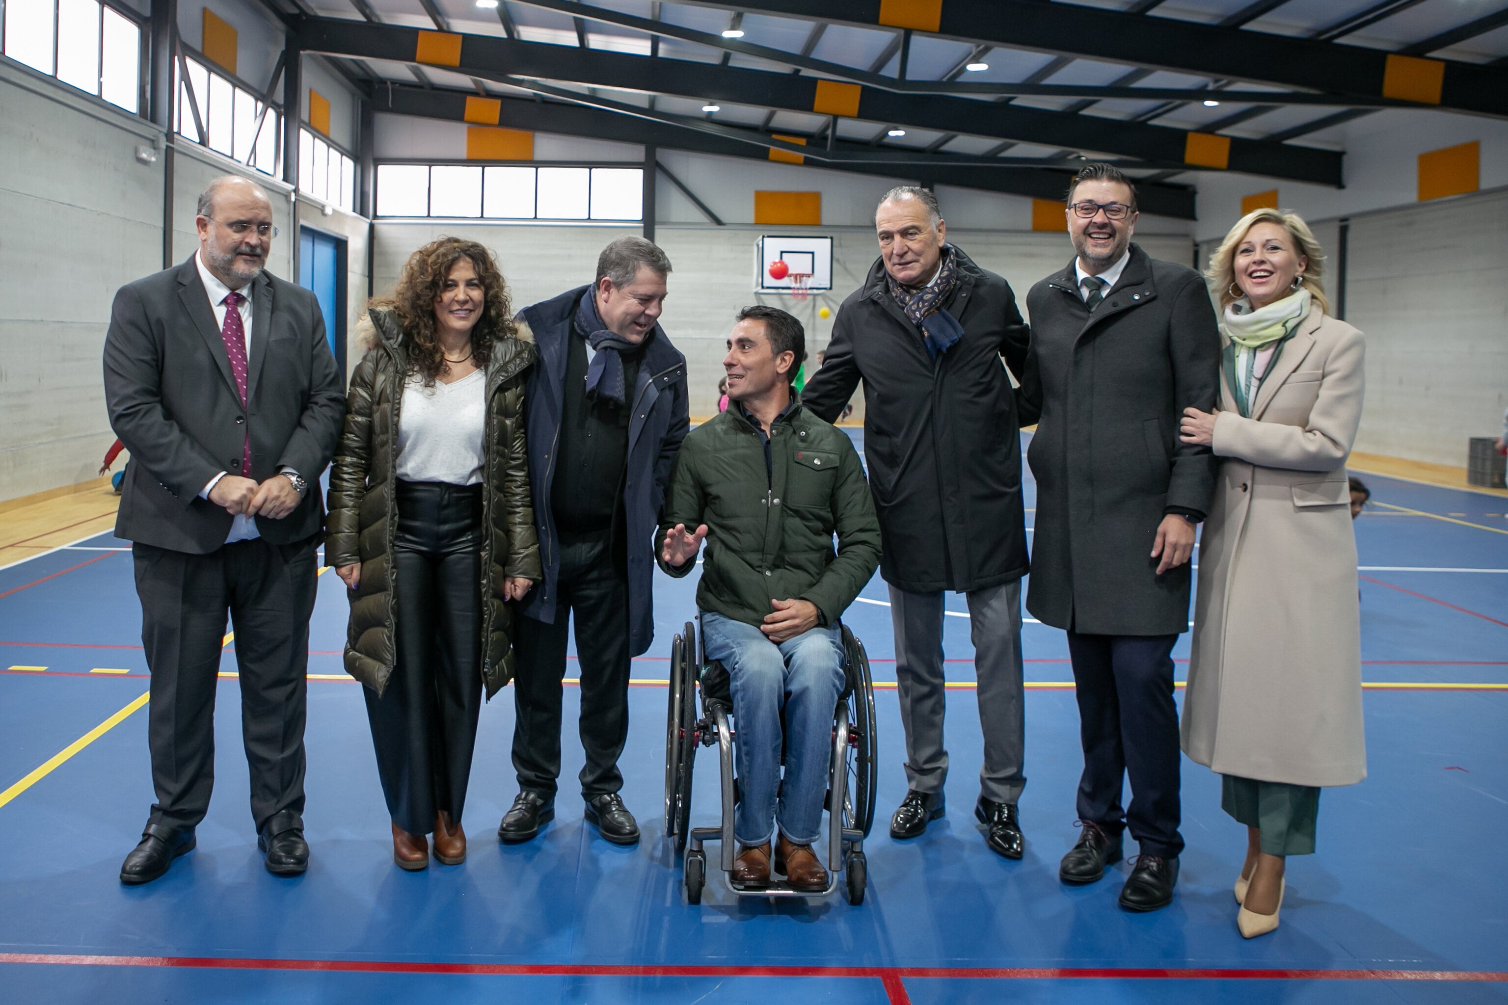
[[[484,976],[777,976],[870,978],[891,991],[902,979],[992,981],[1464,981],[1508,982],[1494,970],[1301,970],[1234,967],[840,967],[670,966],[585,963],[430,963],[415,960],[268,960],[255,957],[116,957],[0,952],[0,964],[288,970],[314,973],[463,973]],[[900,988],[902,994],[905,988]],[[896,999],[891,1000],[906,1000]]]

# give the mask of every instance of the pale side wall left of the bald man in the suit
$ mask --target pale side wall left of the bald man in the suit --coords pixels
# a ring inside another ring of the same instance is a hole
[[[92,478],[115,440],[100,356],[161,258],[163,169],[134,116],[0,60],[0,500]]]

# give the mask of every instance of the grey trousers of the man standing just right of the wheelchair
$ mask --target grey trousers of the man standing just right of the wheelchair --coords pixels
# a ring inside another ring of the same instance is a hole
[[[979,678],[979,725],[985,734],[980,794],[1015,803],[1027,777],[1025,708],[1021,686],[1021,580],[976,589],[968,598],[974,674]],[[890,588],[890,621],[896,631],[896,680],[900,723],[906,729],[906,782],[920,793],[939,793],[947,779],[942,711],[942,592],[908,594]]]

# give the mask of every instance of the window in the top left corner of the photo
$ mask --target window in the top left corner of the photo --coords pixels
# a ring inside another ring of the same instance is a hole
[[[3,6],[6,56],[137,110],[142,29],[134,21],[100,0],[5,0]]]

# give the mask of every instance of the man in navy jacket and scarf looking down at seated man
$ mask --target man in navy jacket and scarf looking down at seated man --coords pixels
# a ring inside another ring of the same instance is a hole
[[[529,481],[544,582],[517,624],[513,765],[519,796],[498,827],[528,841],[555,815],[567,619],[576,618],[585,817],[614,844],[639,829],[623,805],[629,666],[650,646],[654,529],[691,426],[686,357],[656,319],[670,259],[644,238],[603,249],[597,279],[525,307]]]

